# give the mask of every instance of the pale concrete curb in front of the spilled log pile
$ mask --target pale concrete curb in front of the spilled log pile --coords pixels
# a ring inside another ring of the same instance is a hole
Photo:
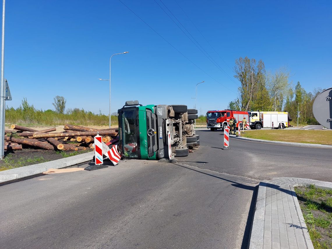
[[[37,174],[41,174],[46,170],[53,169],[61,169],[65,167],[69,167],[78,163],[84,163],[87,161],[91,161],[95,152],[87,152],[76,156],[70,156],[66,158],[61,158],[54,161],[49,161],[45,163],[38,163],[34,165],[24,166],[15,169],[4,170],[0,172],[0,183],[13,181],[17,179],[21,179],[24,177],[29,177]]]

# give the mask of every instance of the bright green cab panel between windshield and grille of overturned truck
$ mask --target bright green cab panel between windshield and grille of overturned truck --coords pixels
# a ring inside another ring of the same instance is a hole
[[[155,160],[157,158],[157,153],[154,152],[153,156],[149,157],[148,147],[147,147],[147,129],[146,129],[146,108],[150,109],[154,113],[154,105],[139,106],[138,107],[138,120],[139,120],[139,142],[140,142],[140,152],[142,159]]]

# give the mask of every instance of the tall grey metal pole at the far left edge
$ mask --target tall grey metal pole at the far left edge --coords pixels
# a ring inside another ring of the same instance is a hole
[[[5,137],[5,0],[2,1],[2,37],[1,37],[1,84],[0,84],[0,159],[4,157]]]

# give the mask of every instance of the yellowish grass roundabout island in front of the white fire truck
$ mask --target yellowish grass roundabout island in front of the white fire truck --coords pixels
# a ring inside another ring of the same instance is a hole
[[[272,141],[332,145],[332,131],[330,130],[249,130],[241,132],[241,136]]]

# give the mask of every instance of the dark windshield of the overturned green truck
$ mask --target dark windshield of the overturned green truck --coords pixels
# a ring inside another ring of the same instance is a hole
[[[123,110],[121,116],[122,152],[125,157],[137,158],[136,108]]]

